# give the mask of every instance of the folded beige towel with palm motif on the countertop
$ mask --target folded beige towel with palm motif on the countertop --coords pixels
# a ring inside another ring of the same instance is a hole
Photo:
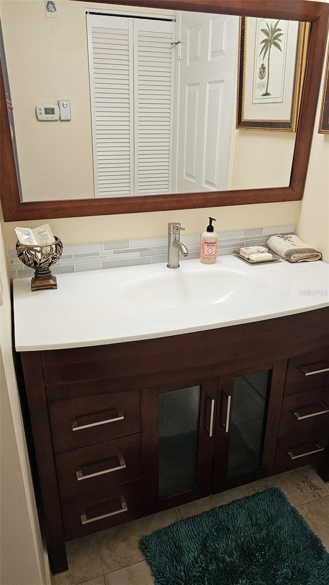
[[[290,236],[280,234],[271,236],[268,240],[268,246],[289,262],[302,262],[304,260],[312,262],[321,258],[321,253],[318,250],[302,242],[298,236],[293,234]]]

